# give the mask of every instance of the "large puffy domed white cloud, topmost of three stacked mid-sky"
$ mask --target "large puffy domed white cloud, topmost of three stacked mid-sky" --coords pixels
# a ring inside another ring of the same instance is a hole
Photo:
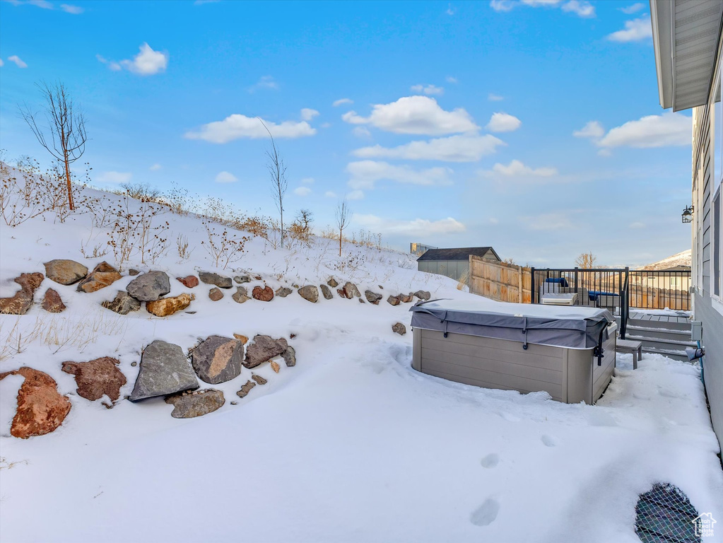
[[[375,104],[368,117],[349,111],[341,118],[351,124],[370,124],[396,134],[437,136],[479,129],[463,108],[445,111],[428,96],[406,96],[392,103]]]

